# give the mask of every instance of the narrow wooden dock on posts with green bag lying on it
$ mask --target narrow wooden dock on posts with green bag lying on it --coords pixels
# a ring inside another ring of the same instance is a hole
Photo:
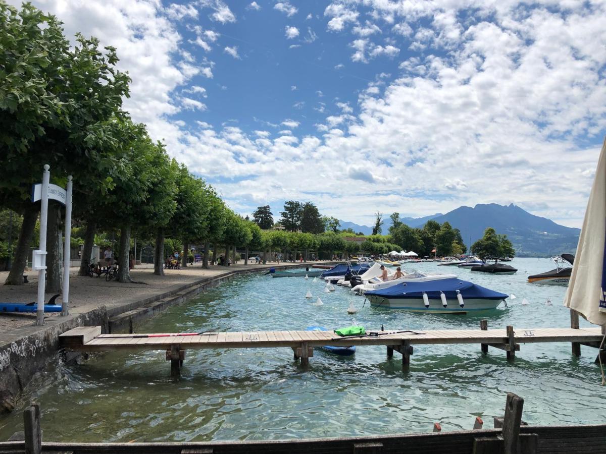
[[[101,334],[101,326],[77,327],[59,335],[61,346],[84,352],[108,350],[165,350],[171,361],[173,377],[179,377],[190,349],[248,349],[290,347],[295,359],[308,364],[314,347],[321,346],[386,346],[387,355],[394,351],[402,354],[402,364],[410,363],[414,345],[427,344],[481,344],[482,352],[495,347],[507,352],[513,360],[520,344],[545,342],[571,342],[574,346],[599,347],[602,331],[589,328],[524,328],[512,326],[487,329],[484,320],[481,329],[450,330],[398,330],[369,331],[360,337],[338,337],[331,331],[252,331],[252,332],[204,332],[162,334]]]

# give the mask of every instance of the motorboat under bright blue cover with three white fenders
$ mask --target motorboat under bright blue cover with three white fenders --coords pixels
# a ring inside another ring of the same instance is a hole
[[[465,314],[496,309],[509,295],[458,278],[403,282],[365,292],[375,308],[431,314]]]

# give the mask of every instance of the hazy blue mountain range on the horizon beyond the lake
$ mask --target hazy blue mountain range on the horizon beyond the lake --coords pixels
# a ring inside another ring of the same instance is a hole
[[[425,225],[428,220],[442,224],[449,222],[453,228],[461,231],[461,237],[469,248],[484,235],[487,227],[493,227],[497,233],[506,234],[516,249],[518,257],[548,257],[563,252],[574,254],[579,241],[581,229],[556,224],[550,219],[536,216],[519,206],[498,205],[496,203],[478,203],[470,206],[459,206],[446,214],[437,213],[419,218],[404,217],[401,221],[410,227]],[[384,220],[382,233],[387,234],[391,219]],[[365,235],[372,233],[372,228],[353,222],[341,221],[341,228],[352,228]]]

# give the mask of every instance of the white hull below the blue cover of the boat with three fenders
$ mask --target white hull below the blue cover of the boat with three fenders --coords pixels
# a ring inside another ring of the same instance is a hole
[[[467,314],[468,312],[492,311],[502,301],[473,298],[465,300],[465,306],[461,308],[458,300],[447,300],[448,306],[444,308],[441,300],[430,300],[429,308],[425,308],[423,298],[390,299],[379,295],[367,295],[367,298],[373,308],[399,309],[409,312],[424,312],[425,314]]]

